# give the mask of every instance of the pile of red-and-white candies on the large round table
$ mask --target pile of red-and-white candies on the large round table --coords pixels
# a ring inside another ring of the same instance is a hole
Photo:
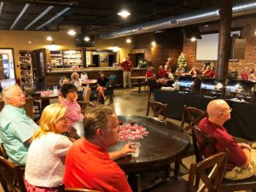
[[[146,128],[140,125],[125,123],[124,125],[121,125],[120,128],[121,131],[119,132],[119,137],[126,142],[142,139],[143,136],[148,135]]]

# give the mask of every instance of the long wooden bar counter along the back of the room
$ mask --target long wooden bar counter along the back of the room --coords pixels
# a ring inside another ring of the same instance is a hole
[[[52,87],[54,85],[57,85],[59,82],[59,79],[61,77],[67,77],[70,79],[70,76],[73,72],[77,72],[79,74],[81,73],[87,73],[88,79],[98,79],[99,77],[99,72],[105,72],[105,77],[108,77],[109,75],[116,75],[117,76],[117,81],[116,85],[117,86],[122,86],[123,85],[123,71],[121,70],[120,67],[89,67],[89,68],[82,68],[79,71],[74,71],[71,70],[70,68],[57,68],[57,69],[52,69],[51,71],[48,71],[45,73],[44,77],[44,89]],[[137,68],[134,67],[131,76],[142,76],[145,75],[147,72],[147,68]]]

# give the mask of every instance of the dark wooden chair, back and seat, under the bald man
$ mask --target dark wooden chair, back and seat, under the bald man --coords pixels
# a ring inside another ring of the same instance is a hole
[[[204,160],[206,157],[204,156],[204,152],[207,148],[209,150],[210,154],[215,154],[215,141],[211,136],[208,136],[203,131],[201,131],[196,125],[192,127],[192,138],[193,138],[193,144],[195,148],[195,159],[196,162],[200,162],[201,160]],[[198,141],[201,141],[199,144]],[[197,181],[198,182],[198,181]],[[223,179],[223,182],[220,185],[219,191],[220,192],[231,192],[231,191],[237,191],[237,190],[250,190],[253,189],[255,191],[256,189],[256,177],[249,177],[242,180],[230,180],[230,179]]]

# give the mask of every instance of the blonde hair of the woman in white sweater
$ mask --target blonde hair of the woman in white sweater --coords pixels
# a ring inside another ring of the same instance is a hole
[[[65,116],[66,111],[67,108],[60,103],[54,103],[44,108],[39,122],[39,129],[34,132],[33,139],[49,132],[60,133],[56,129],[56,122]]]

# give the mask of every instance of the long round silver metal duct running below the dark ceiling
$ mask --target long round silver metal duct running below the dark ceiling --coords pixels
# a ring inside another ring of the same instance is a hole
[[[237,3],[233,6],[232,16],[249,15],[256,13],[256,1],[243,0],[242,3]],[[184,15],[175,15],[161,20],[154,20],[137,26],[126,27],[113,32],[99,34],[99,38],[119,38],[129,35],[140,34],[144,32],[154,32],[167,28],[178,26],[189,26],[198,23],[204,23],[212,20],[219,20],[219,9],[202,9]]]

